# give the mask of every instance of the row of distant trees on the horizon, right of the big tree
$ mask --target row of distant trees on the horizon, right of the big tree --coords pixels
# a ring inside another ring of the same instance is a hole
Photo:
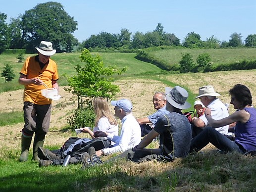
[[[220,40],[214,35],[201,40],[201,36],[195,32],[188,33],[181,42],[173,33],[163,31],[163,26],[158,23],[152,32],[132,34],[128,29],[121,29],[120,34],[110,34],[101,32],[98,35],[91,35],[90,38],[83,41],[80,48],[124,48],[124,49],[140,49],[158,46],[182,46],[185,48],[237,48],[237,47],[253,47],[256,44],[256,34],[249,35],[245,44],[242,42],[242,36],[233,33],[228,42]]]

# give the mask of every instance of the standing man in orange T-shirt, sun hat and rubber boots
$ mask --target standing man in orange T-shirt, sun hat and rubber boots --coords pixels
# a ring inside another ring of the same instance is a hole
[[[58,89],[57,65],[50,59],[56,50],[52,48],[51,42],[45,41],[42,41],[36,49],[38,55],[26,59],[19,77],[19,84],[25,87],[23,95],[25,125],[22,129],[19,161],[27,161],[34,133],[32,160],[39,161],[37,150],[44,144],[51,117],[51,99],[42,96],[41,90],[45,89],[45,86]]]

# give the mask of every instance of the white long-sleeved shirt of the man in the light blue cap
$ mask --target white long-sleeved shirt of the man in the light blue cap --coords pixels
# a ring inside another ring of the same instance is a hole
[[[132,114],[128,114],[121,122],[120,136],[114,136],[110,133],[107,135],[107,139],[110,139],[115,144],[113,147],[102,149],[105,155],[119,151],[124,152],[141,142],[141,127],[135,117]]]

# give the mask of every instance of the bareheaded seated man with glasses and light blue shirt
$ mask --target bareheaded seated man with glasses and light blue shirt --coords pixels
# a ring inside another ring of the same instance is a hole
[[[141,137],[144,137],[154,128],[156,121],[162,115],[169,113],[166,110],[166,96],[163,92],[156,92],[153,96],[152,102],[154,104],[154,109],[157,111],[148,117],[137,119],[141,126]]]

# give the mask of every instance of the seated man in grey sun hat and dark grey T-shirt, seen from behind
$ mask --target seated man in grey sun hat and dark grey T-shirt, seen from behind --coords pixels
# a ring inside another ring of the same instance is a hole
[[[173,89],[165,88],[166,109],[170,112],[162,115],[156,122],[154,129],[133,149],[105,161],[112,162],[119,158],[126,158],[135,162],[143,162],[156,159],[158,161],[172,161],[176,157],[184,158],[189,154],[191,144],[191,126],[181,109],[187,109],[191,105],[186,101],[188,92],[175,86]],[[156,136],[159,135],[159,148],[145,148]],[[83,168],[94,165],[90,162],[88,154],[82,158]]]

